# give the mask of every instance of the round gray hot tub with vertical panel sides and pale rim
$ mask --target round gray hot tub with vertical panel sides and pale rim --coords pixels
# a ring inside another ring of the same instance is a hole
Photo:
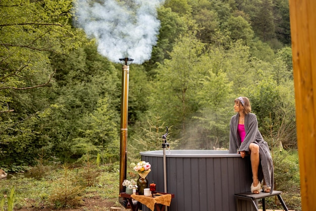
[[[164,192],[163,150],[140,152],[151,164],[147,179]],[[167,191],[172,211],[234,211],[234,194],[250,191],[249,157],[224,150],[166,150]],[[148,210],[143,207],[143,210]]]

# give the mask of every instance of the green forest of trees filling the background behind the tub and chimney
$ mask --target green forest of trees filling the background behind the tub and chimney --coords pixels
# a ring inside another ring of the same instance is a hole
[[[0,168],[119,160],[122,66],[73,3],[0,1]],[[288,0],[166,0],[157,18],[150,60],[130,66],[129,156],[161,149],[166,126],[171,149],[228,148],[239,96],[271,147],[296,148]]]

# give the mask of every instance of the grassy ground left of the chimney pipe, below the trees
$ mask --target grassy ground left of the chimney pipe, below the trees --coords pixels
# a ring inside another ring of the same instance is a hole
[[[51,167],[46,167],[51,168]],[[98,182],[93,186],[80,186],[80,182],[78,175],[81,171],[84,171],[84,167],[80,168],[68,168],[67,170],[67,184],[69,191],[68,195],[75,194],[73,190],[77,187],[80,190],[78,191],[79,197],[99,197],[101,199],[106,199],[109,202],[118,201],[118,189],[119,189],[119,166],[117,164],[112,164],[113,171],[109,171],[108,167],[101,166],[102,171],[100,172],[100,176],[98,177]],[[14,201],[14,209],[41,209],[42,206],[45,206],[49,209],[56,209],[55,203],[51,204],[50,199],[56,196],[54,195],[57,190],[60,190],[59,193],[60,201],[65,201],[65,195],[63,192],[66,187],[65,186],[65,170],[64,169],[56,169],[55,171],[50,171],[45,177],[42,179],[34,179],[28,177],[29,175],[24,174],[14,174],[12,178],[7,180],[0,180],[0,199],[3,198],[4,195],[9,195],[12,187],[15,187],[15,201]],[[72,192],[71,192],[72,189]],[[52,196],[51,196],[52,195]],[[68,206],[71,206],[71,202],[75,201],[74,198],[68,199]],[[81,199],[82,201],[82,199]],[[1,202],[1,200],[0,200]],[[4,202],[7,202],[6,198]],[[57,204],[60,202],[57,202]],[[73,203],[74,204],[74,203]],[[119,204],[117,204],[119,206]],[[7,203],[4,203],[5,208],[7,207]],[[76,206],[75,206],[76,207]],[[103,207],[104,208],[104,207]],[[1,210],[1,204],[0,204]],[[6,210],[6,209],[5,209]]]

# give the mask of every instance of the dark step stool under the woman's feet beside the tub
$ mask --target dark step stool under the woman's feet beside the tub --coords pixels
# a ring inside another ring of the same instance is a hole
[[[239,200],[245,200],[245,201],[250,201],[250,204],[252,205],[253,209],[258,211],[258,199],[262,199],[262,210],[266,211],[265,198],[276,195],[276,196],[278,196],[284,210],[289,211],[289,209],[286,207],[286,205],[281,197],[281,193],[282,193],[282,191],[277,191],[277,190],[274,190],[272,192],[272,194],[265,193],[265,192],[260,192],[259,194],[254,194],[251,192],[236,193],[235,194],[236,210],[241,211],[239,209],[239,207],[240,207]]]

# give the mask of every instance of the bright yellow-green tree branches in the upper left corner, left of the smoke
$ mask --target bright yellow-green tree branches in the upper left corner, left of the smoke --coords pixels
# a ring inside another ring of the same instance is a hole
[[[71,3],[70,0],[1,2],[0,13],[5,17],[0,20],[2,111],[16,111],[11,106],[16,101],[12,93],[44,86],[52,80],[50,52],[65,54],[80,44],[80,30],[68,24]]]

